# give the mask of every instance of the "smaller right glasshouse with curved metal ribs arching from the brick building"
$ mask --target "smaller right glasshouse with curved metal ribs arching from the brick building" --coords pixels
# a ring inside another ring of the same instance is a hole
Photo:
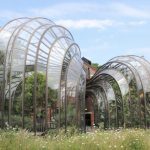
[[[150,63],[143,57],[109,60],[87,82],[86,95],[100,101],[95,122],[104,128],[150,127]]]

